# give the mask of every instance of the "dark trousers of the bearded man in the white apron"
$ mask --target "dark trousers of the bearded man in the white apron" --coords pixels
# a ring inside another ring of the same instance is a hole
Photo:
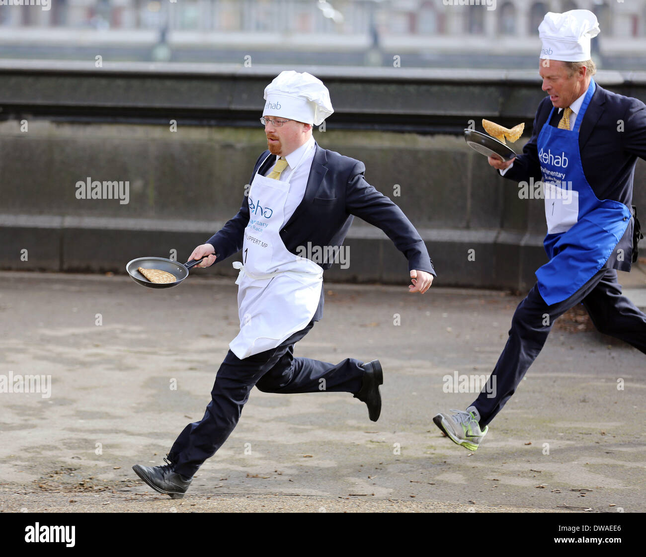
[[[204,417],[183,429],[168,454],[176,472],[192,477],[215,454],[237,425],[254,385],[267,393],[355,394],[360,390],[364,369],[359,360],[347,358],[335,365],[294,357],[295,342],[313,326],[311,321],[280,346],[242,360],[229,350],[215,377]]]

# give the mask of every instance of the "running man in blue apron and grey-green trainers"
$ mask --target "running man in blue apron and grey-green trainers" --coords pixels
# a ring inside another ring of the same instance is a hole
[[[514,394],[543,348],[554,320],[583,303],[599,331],[646,353],[646,315],[621,295],[616,269],[636,261],[639,222],[631,211],[637,157],[646,159],[646,106],[592,79],[588,10],[546,14],[539,73],[549,94],[532,138],[511,162],[490,165],[516,182],[542,180],[549,262],[519,304],[509,339],[488,382],[465,411],[433,417],[454,443],[476,450],[488,424]]]

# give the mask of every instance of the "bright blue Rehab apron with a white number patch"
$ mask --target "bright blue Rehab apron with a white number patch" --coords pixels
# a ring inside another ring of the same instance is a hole
[[[550,261],[536,271],[536,278],[548,306],[568,299],[588,282],[630,224],[629,208],[599,200],[583,173],[579,128],[595,89],[590,79],[572,131],[549,125],[552,107],[537,140],[548,227],[543,246]]]

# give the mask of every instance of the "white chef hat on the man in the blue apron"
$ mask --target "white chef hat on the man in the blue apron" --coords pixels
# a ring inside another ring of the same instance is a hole
[[[563,14],[547,12],[538,36],[541,37],[541,58],[564,62],[590,59],[590,39],[599,34],[599,22],[589,10],[570,10]]]

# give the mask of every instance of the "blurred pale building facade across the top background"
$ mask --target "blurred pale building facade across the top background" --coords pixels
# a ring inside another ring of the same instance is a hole
[[[431,67],[437,56],[475,55],[475,65],[487,55],[535,57],[545,13],[578,8],[597,14],[601,35],[593,42],[603,56],[644,56],[646,0],[50,0],[48,9],[0,5],[0,45],[22,48],[25,58],[43,55],[37,48],[30,53],[37,45],[48,45],[52,57],[58,50],[61,58],[65,48],[69,54],[70,47],[110,45],[121,48],[121,59],[141,59],[129,49],[161,42],[178,61],[203,61],[200,51],[213,48],[273,51],[276,58],[295,48],[322,54],[377,49],[414,54],[414,65]],[[0,56],[16,56],[16,50]]]

